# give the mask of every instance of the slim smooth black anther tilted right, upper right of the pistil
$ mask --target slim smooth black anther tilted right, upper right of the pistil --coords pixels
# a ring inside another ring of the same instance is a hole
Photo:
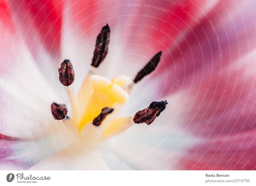
[[[144,76],[150,74],[152,71],[156,69],[157,64],[159,63],[161,59],[162,51],[158,52],[149,62],[146,64],[146,66],[139,71],[137,76],[134,78],[134,83],[137,83],[140,81]]]

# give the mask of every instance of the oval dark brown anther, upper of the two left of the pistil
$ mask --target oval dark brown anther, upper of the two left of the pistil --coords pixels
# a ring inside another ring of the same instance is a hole
[[[59,68],[59,80],[64,86],[71,85],[75,80],[75,73],[71,62],[65,59]]]

